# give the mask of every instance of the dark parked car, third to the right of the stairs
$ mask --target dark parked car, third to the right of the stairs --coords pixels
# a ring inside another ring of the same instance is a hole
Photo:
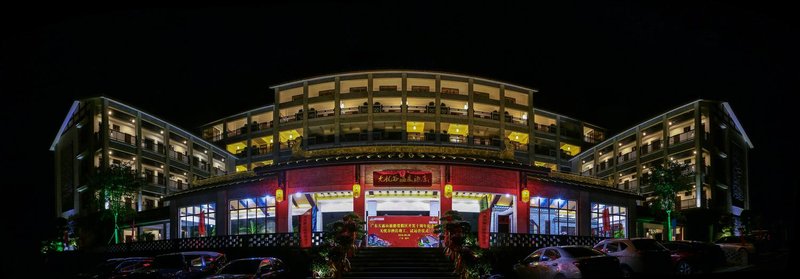
[[[711,272],[725,264],[722,249],[701,241],[667,241],[661,243],[672,253],[672,264],[677,274]]]

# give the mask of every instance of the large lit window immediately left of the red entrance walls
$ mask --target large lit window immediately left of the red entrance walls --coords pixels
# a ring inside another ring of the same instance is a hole
[[[230,232],[237,234],[275,233],[275,198],[230,200]]]

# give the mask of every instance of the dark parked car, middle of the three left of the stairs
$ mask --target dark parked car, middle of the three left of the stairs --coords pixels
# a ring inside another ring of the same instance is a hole
[[[225,254],[217,252],[164,254],[156,256],[150,266],[131,273],[131,278],[203,278],[216,273],[225,262]]]

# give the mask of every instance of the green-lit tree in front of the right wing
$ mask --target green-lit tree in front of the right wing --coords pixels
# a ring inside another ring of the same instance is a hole
[[[657,208],[667,212],[667,239],[672,240],[672,211],[678,192],[692,188],[692,176],[689,165],[673,161],[650,168],[647,182],[653,187],[654,203]]]

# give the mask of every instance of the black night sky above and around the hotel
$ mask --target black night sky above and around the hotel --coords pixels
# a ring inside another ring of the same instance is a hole
[[[52,219],[48,148],[73,100],[104,95],[194,129],[268,104],[271,85],[372,69],[538,88],[537,107],[612,132],[698,98],[728,101],[756,147],[753,208],[796,212],[796,22],[785,7],[692,3],[0,8],[3,184],[22,191],[5,196],[14,225],[0,231],[29,251]]]

